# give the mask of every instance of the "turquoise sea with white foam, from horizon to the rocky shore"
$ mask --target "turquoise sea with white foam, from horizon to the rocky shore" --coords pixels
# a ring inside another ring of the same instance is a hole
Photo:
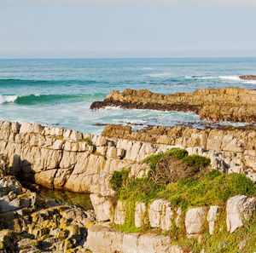
[[[174,125],[199,123],[193,113],[108,108],[90,111],[113,89],[149,89],[163,94],[243,87],[256,81],[256,58],[0,60],[0,118],[57,125],[94,134],[94,124]],[[196,78],[192,78],[196,76]]]

